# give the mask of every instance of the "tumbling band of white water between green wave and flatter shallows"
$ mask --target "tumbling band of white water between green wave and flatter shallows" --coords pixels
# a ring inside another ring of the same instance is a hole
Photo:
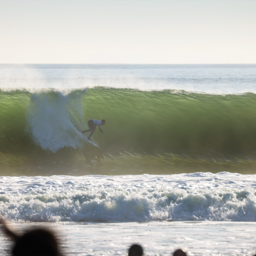
[[[0,182],[2,215],[18,222],[256,220],[255,175],[1,177]]]

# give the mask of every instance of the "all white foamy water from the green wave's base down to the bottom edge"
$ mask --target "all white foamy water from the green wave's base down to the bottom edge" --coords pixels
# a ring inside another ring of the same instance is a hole
[[[0,212],[12,229],[46,226],[68,255],[126,255],[132,243],[146,255],[256,250],[255,175],[21,176],[0,184]],[[2,255],[9,247],[0,237]]]

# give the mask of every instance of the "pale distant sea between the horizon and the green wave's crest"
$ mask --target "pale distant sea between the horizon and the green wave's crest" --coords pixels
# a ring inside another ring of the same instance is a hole
[[[256,93],[256,65],[0,65],[0,88]]]

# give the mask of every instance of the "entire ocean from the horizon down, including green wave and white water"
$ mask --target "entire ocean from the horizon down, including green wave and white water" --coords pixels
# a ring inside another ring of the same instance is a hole
[[[256,65],[0,65],[0,214],[68,255],[252,255],[255,95]]]

